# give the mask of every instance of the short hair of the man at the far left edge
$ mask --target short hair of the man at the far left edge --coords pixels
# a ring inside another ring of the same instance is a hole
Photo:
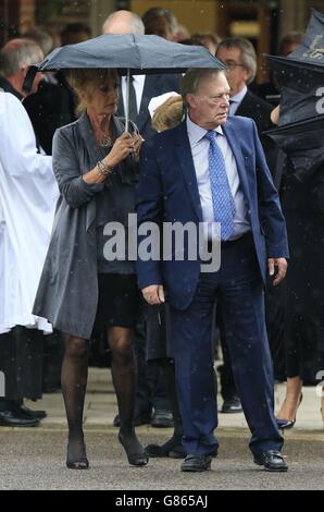
[[[43,59],[41,48],[30,39],[11,39],[0,51],[0,75],[16,74]]]

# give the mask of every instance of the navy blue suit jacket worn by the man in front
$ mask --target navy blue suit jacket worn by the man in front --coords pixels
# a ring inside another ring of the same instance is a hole
[[[285,220],[273,185],[254,122],[230,117],[223,125],[239,173],[249,222],[253,234],[260,272],[265,282],[266,258],[288,257]],[[137,197],[138,224],[146,221],[180,223],[202,221],[196,171],[186,121],[144,143]],[[141,243],[142,236],[139,236]],[[144,261],[138,259],[139,287],[164,284],[171,304],[185,309],[197,287],[200,261]]]

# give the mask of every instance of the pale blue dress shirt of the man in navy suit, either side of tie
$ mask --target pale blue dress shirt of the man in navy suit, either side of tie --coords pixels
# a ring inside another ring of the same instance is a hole
[[[204,222],[215,222],[209,175],[208,154],[210,142],[205,137],[207,130],[194,123],[190,120],[189,115],[187,115],[187,131],[197,176],[198,191],[202,209],[202,220]],[[222,127],[217,126],[215,129],[215,132],[219,134],[216,141],[225,160],[225,168],[229,188],[234,197],[236,208],[236,212],[234,216],[234,232],[230,237],[230,240],[235,240],[250,230],[250,223],[247,217],[247,206],[245,197],[240,190],[236,160],[234,158],[230,146],[226,139],[226,136],[224,135]],[[209,227],[208,237],[211,237],[211,227]]]

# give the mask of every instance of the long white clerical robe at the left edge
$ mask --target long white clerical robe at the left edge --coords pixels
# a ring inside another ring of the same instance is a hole
[[[28,114],[0,93],[0,334],[14,326],[51,332],[32,315],[59,190],[52,158],[37,153]]]

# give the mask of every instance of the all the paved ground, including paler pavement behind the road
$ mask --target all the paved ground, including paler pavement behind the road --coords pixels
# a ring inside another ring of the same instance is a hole
[[[279,403],[284,387],[276,388]],[[242,414],[220,414],[220,453],[212,471],[184,474],[179,461],[150,460],[148,466],[128,465],[112,419],[115,397],[108,370],[91,369],[86,403],[85,434],[90,468],[65,468],[66,423],[60,393],[37,403],[49,414],[38,428],[0,428],[0,489],[324,489],[324,430],[314,388],[307,388],[296,427],[285,435],[284,454],[290,471],[270,474],[252,463]],[[30,405],[30,404],[29,404]],[[35,404],[32,404],[35,409]],[[171,429],[138,428],[144,444],[163,442]]]

